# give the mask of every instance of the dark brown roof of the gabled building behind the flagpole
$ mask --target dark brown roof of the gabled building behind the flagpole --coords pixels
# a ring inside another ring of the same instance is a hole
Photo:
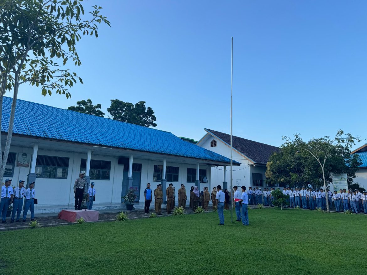
[[[211,135],[218,137],[223,142],[230,145],[230,135],[210,129],[204,129]],[[279,152],[279,147],[271,146],[268,144],[252,141],[249,139],[244,139],[242,137],[233,136],[233,148],[239,151],[241,154],[250,158],[257,164],[266,164],[270,155],[274,152]]]

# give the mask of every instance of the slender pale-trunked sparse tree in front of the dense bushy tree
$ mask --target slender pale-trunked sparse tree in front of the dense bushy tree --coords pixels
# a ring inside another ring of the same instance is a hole
[[[355,145],[355,141],[361,141],[359,137],[355,137],[351,133],[344,133],[342,130],[339,130],[334,138],[324,136],[318,139],[312,138],[308,142],[302,140],[299,134],[295,134],[293,140],[286,136],[283,136],[282,139],[286,140],[284,144],[289,144],[297,147],[301,151],[308,152],[311,157],[316,159],[321,168],[324,190],[326,190],[327,186],[327,168],[333,165],[333,163],[331,163],[333,159],[331,156],[339,155],[340,158],[336,165],[339,165],[339,168],[341,168],[344,163],[343,157],[347,157],[348,154],[350,156],[349,148]],[[338,173],[338,171],[336,172]],[[326,210],[330,212],[327,193]]]

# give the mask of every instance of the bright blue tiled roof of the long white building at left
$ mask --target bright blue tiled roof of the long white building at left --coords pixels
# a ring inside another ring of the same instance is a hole
[[[4,97],[1,131],[7,132],[12,98]],[[229,163],[230,159],[170,132],[17,100],[14,134]],[[238,162],[233,161],[235,164]]]

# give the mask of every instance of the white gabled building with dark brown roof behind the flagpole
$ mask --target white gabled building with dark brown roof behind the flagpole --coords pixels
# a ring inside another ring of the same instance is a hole
[[[197,145],[230,158],[230,135],[211,129],[204,130],[207,133]],[[233,167],[233,186],[246,186],[246,188],[249,186],[267,186],[265,182],[266,163],[270,155],[278,152],[279,148],[238,136],[233,136],[232,140],[233,160],[241,163],[240,166]],[[218,182],[223,177],[226,179],[224,181],[230,182],[230,167],[228,165],[212,166],[211,181]],[[229,184],[227,186],[229,188]]]

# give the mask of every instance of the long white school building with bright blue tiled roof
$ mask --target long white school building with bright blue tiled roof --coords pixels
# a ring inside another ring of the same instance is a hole
[[[11,104],[4,97],[3,150]],[[12,179],[12,186],[35,181],[36,214],[55,213],[74,208],[73,186],[84,170],[88,183],[95,182],[93,209],[123,209],[121,197],[130,187],[138,194],[135,204],[144,204],[147,183],[153,190],[162,184],[164,201],[168,183],[176,196],[183,183],[189,202],[191,186],[222,183],[223,177],[210,180],[212,167],[229,164],[228,157],[170,132],[18,99],[4,179]],[[234,165],[241,167],[240,161]]]

